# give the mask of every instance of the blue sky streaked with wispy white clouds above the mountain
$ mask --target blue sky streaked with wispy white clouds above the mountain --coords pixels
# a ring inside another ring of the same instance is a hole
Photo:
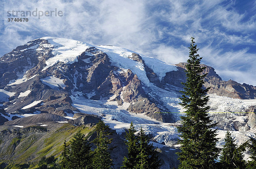
[[[202,63],[222,79],[256,86],[255,0],[32,1],[12,0],[16,8],[6,1],[5,8],[58,8],[64,17],[5,25],[3,31],[1,22],[7,18],[0,4],[0,56],[32,39],[52,36],[116,45],[176,64],[188,59],[193,36]]]

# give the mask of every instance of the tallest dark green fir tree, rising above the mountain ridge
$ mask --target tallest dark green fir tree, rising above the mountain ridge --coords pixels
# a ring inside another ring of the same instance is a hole
[[[205,67],[201,67],[202,57],[197,54],[198,48],[193,37],[189,47],[189,59],[186,65],[186,83],[180,100],[180,105],[186,109],[186,116],[181,117],[182,126],[178,127],[181,133],[179,143],[181,152],[177,153],[180,160],[180,169],[212,169],[219,149],[216,147],[216,124],[212,123],[207,114],[209,106],[206,96],[209,88],[204,89]]]

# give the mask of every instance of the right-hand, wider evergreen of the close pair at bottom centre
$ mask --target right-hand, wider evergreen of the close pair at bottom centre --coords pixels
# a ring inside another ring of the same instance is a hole
[[[139,133],[139,154],[137,155],[136,169],[159,169],[161,166],[158,160],[157,151],[154,146],[149,143],[149,138],[144,130],[140,128]]]

